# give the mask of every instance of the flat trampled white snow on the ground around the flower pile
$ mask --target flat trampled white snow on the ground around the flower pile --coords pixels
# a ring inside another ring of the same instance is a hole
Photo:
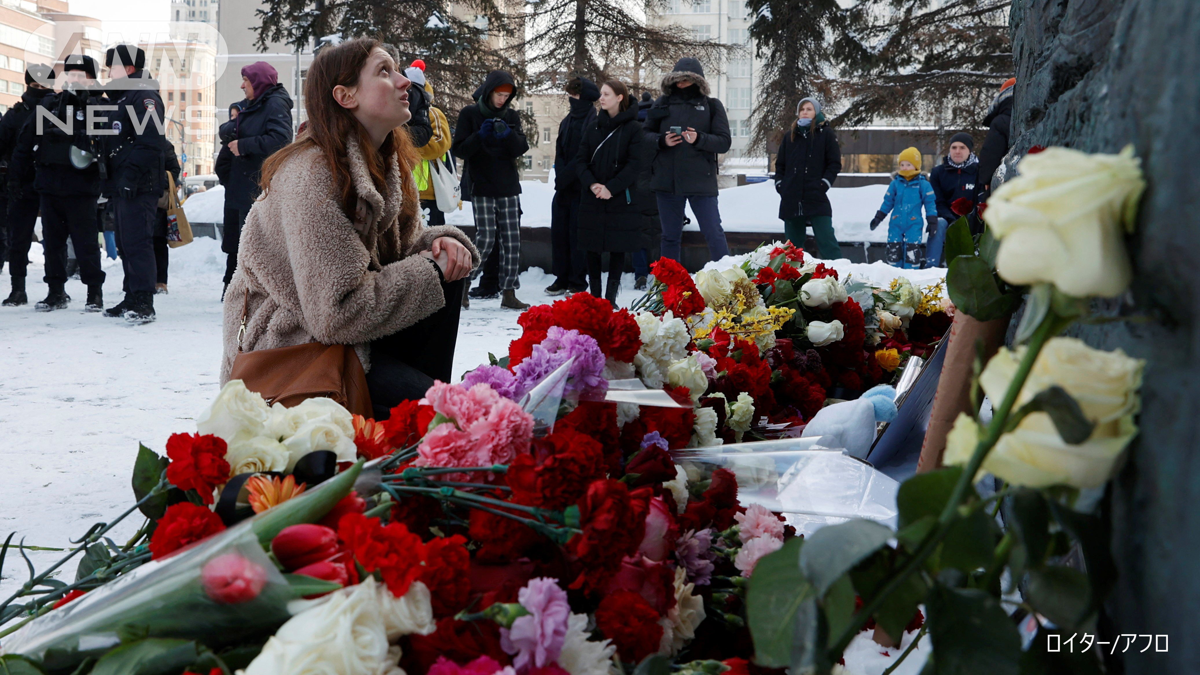
[[[170,294],[155,297],[157,321],[144,326],[85,313],[85,288],[74,279],[67,283],[70,308],[35,312],[32,302],[47,293],[38,245],[30,258],[30,305],[0,308],[0,538],[17,531],[16,540],[28,544],[64,547],[132,504],[138,444],[163,452],[170,434],[196,430],[193,418],[217,393],[224,254],[220,242],[203,237],[172,249]],[[833,264],[882,284],[901,273],[881,263]],[[104,266],[110,306],[121,297],[121,266],[107,259]],[[0,297],[11,290],[4,272]],[[944,270],[905,273],[926,284]],[[518,296],[552,301],[542,293],[551,281],[529,270],[521,275]],[[622,305],[641,295],[632,287],[632,275],[625,275]],[[498,300],[472,302],[458,330],[455,375],[486,363],[488,351],[506,354],[520,336],[517,315]],[[138,526],[130,518],[112,532],[114,541],[124,542]],[[58,555],[30,554],[40,568]],[[73,578],[74,565],[68,568],[62,578]],[[24,580],[19,556],[8,556],[4,573],[0,593]]]

